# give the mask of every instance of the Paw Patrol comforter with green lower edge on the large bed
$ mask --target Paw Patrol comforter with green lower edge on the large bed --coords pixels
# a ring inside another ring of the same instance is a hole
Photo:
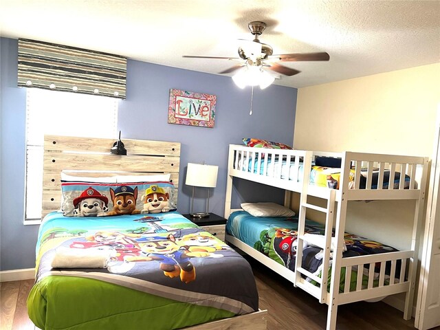
[[[245,259],[177,212],[45,217],[28,313],[41,329],[179,329],[258,311]]]

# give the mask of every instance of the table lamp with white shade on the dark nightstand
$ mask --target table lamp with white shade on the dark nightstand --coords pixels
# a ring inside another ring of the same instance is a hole
[[[190,214],[192,217],[208,217],[209,215],[209,188],[217,186],[217,173],[219,166],[188,163],[186,169],[185,184],[192,186],[192,197]],[[208,188],[208,197],[206,197],[205,212],[194,212],[194,192],[195,187]]]

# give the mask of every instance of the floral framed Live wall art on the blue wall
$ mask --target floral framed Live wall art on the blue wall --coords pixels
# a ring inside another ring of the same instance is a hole
[[[214,127],[215,95],[170,89],[168,123]]]

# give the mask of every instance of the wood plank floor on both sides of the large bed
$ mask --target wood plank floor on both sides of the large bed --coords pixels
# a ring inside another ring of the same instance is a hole
[[[252,265],[259,289],[260,308],[269,311],[268,330],[322,330],[327,321],[327,305],[295,288],[261,265],[247,258]],[[1,330],[38,330],[28,318],[26,298],[33,280],[0,283]],[[338,330],[408,330],[414,319],[404,320],[403,313],[385,303],[353,303],[338,309]]]

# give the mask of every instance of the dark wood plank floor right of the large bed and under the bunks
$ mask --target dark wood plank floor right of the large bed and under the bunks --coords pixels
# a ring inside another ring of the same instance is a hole
[[[245,257],[252,265],[259,290],[260,309],[267,309],[268,330],[322,330],[327,322],[327,305],[276,274],[258,261]],[[409,330],[414,319],[386,303],[351,303],[338,307],[338,330]]]

